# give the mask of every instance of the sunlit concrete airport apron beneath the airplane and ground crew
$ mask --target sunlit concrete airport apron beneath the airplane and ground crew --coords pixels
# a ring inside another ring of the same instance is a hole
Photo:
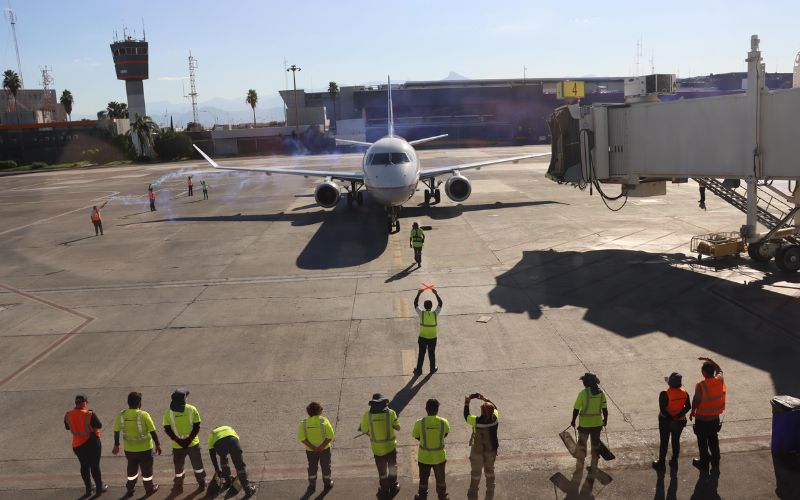
[[[424,168],[544,150],[420,156]],[[350,154],[222,163],[353,169],[359,161]],[[305,454],[295,432],[312,400],[337,433],[335,487],[325,498],[374,497],[368,440],[354,437],[374,392],[400,415],[396,498],[416,489],[410,431],[430,397],[452,428],[451,497],[465,496],[462,401],[472,392],[501,413],[497,499],[775,498],[776,474],[784,483],[798,474],[776,473],[769,453],[769,399],[800,395],[798,276],[746,257],[698,263],[689,255],[693,235],[735,231],[744,220],[710,195],[708,210],[699,210],[695,184],[631,198],[614,213],[596,194],[545,179],[546,162],[468,172],[473,191],[463,203],[424,207],[420,191],[401,212],[399,235],[386,234],[368,196],[364,207],[342,201],[322,210],[313,179],[218,172],[195,161],[0,177],[0,496],[81,494],[61,424],[78,392],[108,429],[102,468],[107,496],[119,496],[125,460],[110,453],[110,429],[126,394],[139,390],[165,450],[153,498],[167,498],[172,461],[160,422],[172,390],[183,386],[202,416],[202,446],[214,426],[238,431],[257,498],[303,495]],[[188,172],[196,186],[209,183],[210,200],[199,189],[185,195]],[[150,183],[158,195],[152,213]],[[90,209],[107,199],[105,235],[95,237]],[[419,270],[410,268],[413,221],[432,226]],[[445,302],[439,372],[428,375],[426,361],[413,378],[413,299],[422,282]],[[691,392],[699,356],[725,370],[722,472],[702,477],[691,466],[689,427],[677,475],[659,478],[649,464],[663,377],[681,372]],[[602,467],[614,480],[602,486],[576,476],[577,486],[554,489],[554,474],[573,478],[558,433],[585,371],[599,375],[608,395],[617,460]],[[178,498],[192,498],[191,483]]]

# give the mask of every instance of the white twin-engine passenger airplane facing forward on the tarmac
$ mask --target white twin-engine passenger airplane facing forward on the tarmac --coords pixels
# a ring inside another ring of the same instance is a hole
[[[400,231],[400,221],[398,215],[403,204],[414,196],[417,185],[422,182],[427,186],[425,190],[425,204],[430,205],[433,200],[435,203],[441,201],[441,191],[439,186],[442,181],[437,181],[437,177],[450,175],[444,185],[447,196],[455,201],[461,202],[469,198],[472,194],[472,185],[469,180],[461,174],[464,170],[480,169],[488,165],[498,163],[518,162],[528,158],[549,156],[550,153],[526,154],[511,156],[493,160],[481,160],[460,165],[444,167],[434,167],[421,169],[420,161],[414,146],[430,141],[435,141],[447,134],[426,137],[407,141],[394,133],[394,111],[392,109],[392,84],[388,80],[388,133],[376,142],[351,141],[336,139],[337,142],[344,144],[355,144],[366,146],[364,158],[361,163],[360,172],[337,172],[333,170],[306,170],[296,168],[277,168],[277,167],[235,167],[220,166],[212,160],[202,149],[195,149],[212,167],[220,170],[237,170],[245,172],[264,172],[267,175],[289,174],[302,175],[304,177],[320,177],[323,181],[314,189],[314,199],[323,208],[335,207],[341,198],[341,188],[344,187],[347,197],[347,205],[353,206],[357,202],[359,206],[364,204],[363,190],[369,192],[372,199],[378,202],[386,210],[388,215],[388,229]],[[340,187],[338,182],[344,183]],[[349,184],[349,186],[348,186]]]

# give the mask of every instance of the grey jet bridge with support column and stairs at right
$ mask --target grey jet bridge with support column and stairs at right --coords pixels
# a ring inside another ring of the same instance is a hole
[[[641,85],[626,82],[626,88],[639,90],[626,95],[624,104],[556,109],[549,120],[553,141],[547,177],[596,189],[609,208],[609,201],[628,196],[664,195],[667,182],[723,179],[712,192],[746,213],[740,234],[750,244],[750,255],[780,257],[782,269],[800,269],[800,211],[795,210],[800,207],[800,88],[765,88],[757,35],[746,60],[742,94],[662,101],[659,95],[674,92],[674,86],[657,82],[671,75],[649,75],[639,77]],[[743,195],[732,192],[739,180],[746,187]],[[621,192],[606,194],[610,184],[619,184]],[[772,208],[764,203],[767,190],[783,202],[773,217],[763,214]],[[758,232],[759,221],[766,233]]]

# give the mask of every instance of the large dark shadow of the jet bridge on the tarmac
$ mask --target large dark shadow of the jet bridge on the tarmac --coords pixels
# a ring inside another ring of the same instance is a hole
[[[800,301],[760,286],[771,280],[745,285],[686,267],[695,261],[633,250],[527,251],[497,276],[489,299],[532,319],[577,307],[584,321],[627,338],[660,331],[696,346],[687,358],[719,353],[770,373],[777,394],[800,393]]]

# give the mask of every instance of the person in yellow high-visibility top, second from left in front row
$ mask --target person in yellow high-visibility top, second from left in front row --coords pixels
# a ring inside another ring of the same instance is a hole
[[[158,490],[158,485],[153,482],[153,446],[156,453],[161,455],[161,444],[153,419],[141,408],[142,393],[131,392],[128,394],[128,409],[119,412],[114,419],[114,449],[111,452],[114,455],[119,453],[119,433],[122,432],[123,449],[128,459],[128,482],[125,483],[127,497],[133,496],[139,470],[142,472],[145,494],[150,496]]]

